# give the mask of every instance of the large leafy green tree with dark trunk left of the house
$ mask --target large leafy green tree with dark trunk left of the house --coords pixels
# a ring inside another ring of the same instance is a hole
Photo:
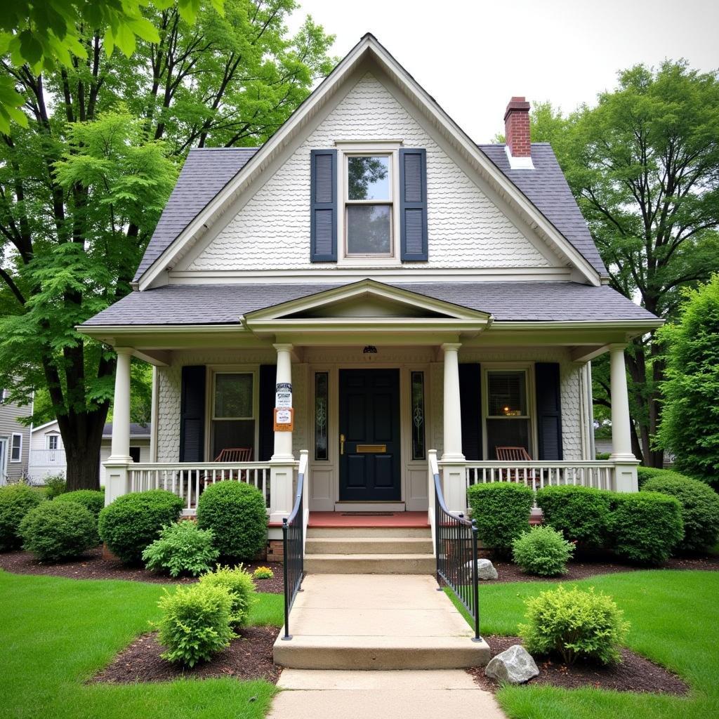
[[[290,37],[294,9],[227,0],[192,24],[155,2],[142,12],[157,40],[141,36],[129,57],[86,25],[69,65],[0,58],[26,99],[26,127],[0,142],[0,384],[14,400],[47,391],[70,490],[99,484],[115,370],[75,326],[129,292],[186,152],[262,144],[329,72],[332,38],[310,18]]]

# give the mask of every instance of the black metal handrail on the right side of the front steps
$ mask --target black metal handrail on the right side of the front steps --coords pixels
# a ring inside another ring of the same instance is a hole
[[[477,522],[450,512],[444,503],[439,474],[434,474],[434,541],[437,583],[444,582],[475,623],[472,641],[480,636],[480,582],[477,573]]]

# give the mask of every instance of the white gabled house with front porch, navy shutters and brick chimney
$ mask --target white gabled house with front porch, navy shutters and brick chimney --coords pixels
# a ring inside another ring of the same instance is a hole
[[[507,144],[477,145],[365,35],[262,147],[192,150],[134,291],[79,328],[118,355],[107,499],[166,487],[193,513],[240,478],[272,528],[303,450],[311,512],[428,510],[431,450],[453,510],[508,476],[636,490],[624,348],[661,322],[608,286],[528,111],[513,98]],[[155,367],[139,464],[133,355]]]

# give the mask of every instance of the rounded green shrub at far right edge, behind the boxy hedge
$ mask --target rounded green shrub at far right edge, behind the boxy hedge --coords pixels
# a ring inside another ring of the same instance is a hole
[[[719,495],[705,482],[669,474],[648,480],[642,489],[676,497],[682,505],[682,551],[712,549],[719,539]]]

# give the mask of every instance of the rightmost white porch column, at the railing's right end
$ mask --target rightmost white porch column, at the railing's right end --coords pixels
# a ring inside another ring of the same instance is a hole
[[[610,384],[612,394],[612,455],[615,462],[615,487],[618,492],[638,491],[636,467],[631,451],[631,418],[627,390],[624,344],[610,344]]]

